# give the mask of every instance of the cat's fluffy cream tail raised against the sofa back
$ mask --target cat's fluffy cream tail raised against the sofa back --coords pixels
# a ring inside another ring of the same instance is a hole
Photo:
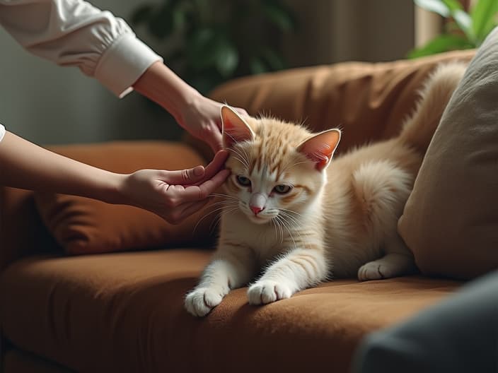
[[[415,113],[405,121],[399,137],[403,143],[425,153],[466,68],[467,64],[463,62],[450,62],[436,67],[420,91]]]

